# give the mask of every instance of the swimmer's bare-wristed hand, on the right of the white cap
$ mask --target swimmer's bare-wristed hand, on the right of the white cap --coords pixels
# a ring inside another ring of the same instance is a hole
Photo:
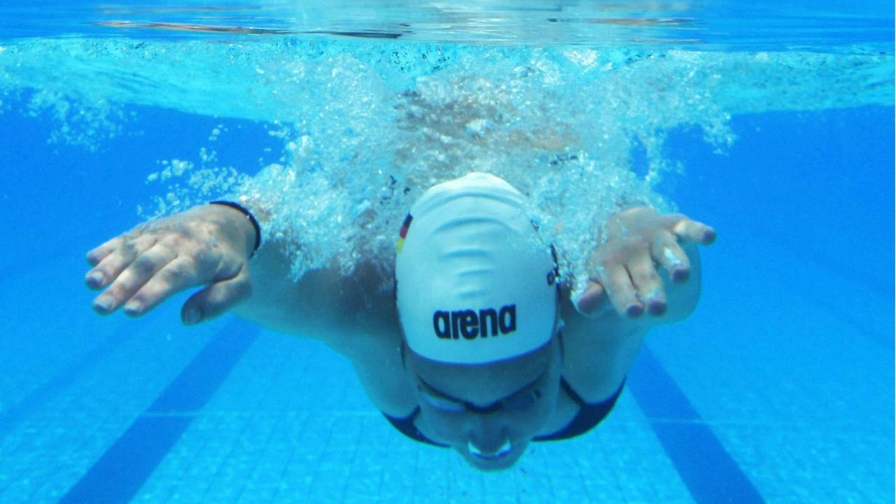
[[[711,245],[715,239],[710,226],[680,213],[660,215],[648,207],[615,213],[601,230],[600,245],[588,264],[588,288],[576,308],[593,315],[606,308],[608,300],[623,317],[641,317],[645,310],[661,317],[668,300],[658,266],[672,282],[685,283],[692,265],[683,247]]]

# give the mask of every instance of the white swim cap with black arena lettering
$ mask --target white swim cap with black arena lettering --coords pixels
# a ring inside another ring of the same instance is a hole
[[[420,196],[395,259],[396,301],[412,351],[482,364],[550,340],[556,262],[525,206],[520,191],[478,172]]]

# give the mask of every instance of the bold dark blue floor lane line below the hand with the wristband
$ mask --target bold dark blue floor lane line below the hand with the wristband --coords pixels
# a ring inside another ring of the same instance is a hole
[[[257,326],[229,322],[59,502],[113,504],[134,498],[259,333]]]

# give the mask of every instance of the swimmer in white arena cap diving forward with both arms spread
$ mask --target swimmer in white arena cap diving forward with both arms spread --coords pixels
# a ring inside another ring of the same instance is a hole
[[[715,239],[684,215],[616,213],[573,303],[525,204],[503,179],[470,173],[418,198],[396,230],[393,271],[333,266],[297,282],[276,243],[255,250],[250,211],[206,204],[91,250],[86,281],[105,290],[101,314],[142,316],[202,286],[181,310],[187,325],[229,311],[322,340],[402,434],[501,470],[531,442],[574,438],[607,416],[650,327],[694,309],[696,246]],[[394,290],[381,289],[392,276]]]

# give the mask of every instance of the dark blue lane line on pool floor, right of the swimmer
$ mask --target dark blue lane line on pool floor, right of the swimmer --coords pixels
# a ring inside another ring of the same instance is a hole
[[[626,387],[699,504],[764,502],[685,394],[644,345]]]

